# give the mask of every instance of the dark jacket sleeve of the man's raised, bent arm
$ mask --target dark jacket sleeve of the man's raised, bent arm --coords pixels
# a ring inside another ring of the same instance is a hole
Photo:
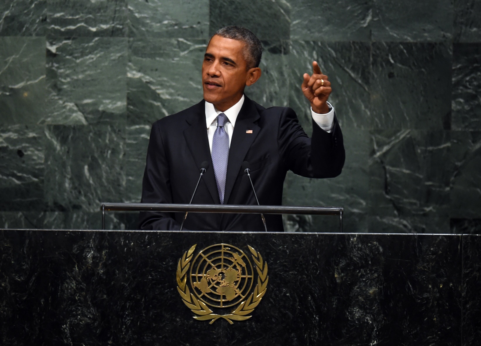
[[[334,126],[326,132],[312,120],[312,138],[299,124],[297,115],[286,108],[279,119],[278,145],[288,169],[306,178],[334,178],[345,161],[342,132],[334,115]]]

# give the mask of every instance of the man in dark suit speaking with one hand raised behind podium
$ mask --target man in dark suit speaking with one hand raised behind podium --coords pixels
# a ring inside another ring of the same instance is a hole
[[[301,86],[311,103],[309,138],[291,108],[264,108],[244,95],[261,76],[262,46],[247,29],[228,26],[211,38],[202,65],[204,99],[152,126],[142,203],[189,203],[201,165],[208,167],[193,204],[281,205],[288,170],[308,178],[338,176],[344,165],[341,128],[328,77],[316,62]],[[140,213],[142,230],[179,230],[183,213]],[[282,231],[280,215],[266,215],[267,231]],[[259,215],[189,213],[189,230],[264,231]]]

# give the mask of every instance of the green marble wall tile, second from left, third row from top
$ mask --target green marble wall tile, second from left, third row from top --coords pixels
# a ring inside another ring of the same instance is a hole
[[[45,193],[51,209],[94,213],[101,202],[123,201],[125,128],[55,125],[47,127],[46,136]]]

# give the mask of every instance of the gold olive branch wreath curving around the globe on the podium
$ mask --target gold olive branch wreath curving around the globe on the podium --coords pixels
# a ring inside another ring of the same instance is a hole
[[[249,251],[252,254],[253,261],[255,263],[255,269],[257,269],[257,284],[254,288],[254,292],[249,297],[242,301],[239,306],[233,310],[230,314],[219,315],[215,314],[203,301],[197,299],[195,295],[190,293],[189,286],[187,285],[187,271],[190,268],[190,261],[193,257],[193,253],[197,244],[193,245],[189,251],[184,252],[182,258],[179,259],[177,264],[177,291],[179,292],[184,304],[190,308],[190,310],[198,315],[193,316],[196,320],[210,320],[209,324],[215,322],[219,318],[227,320],[230,324],[233,324],[232,320],[243,321],[248,320],[252,316],[246,316],[254,311],[254,308],[259,305],[262,297],[266,294],[267,282],[269,277],[267,276],[267,262],[262,259],[261,254],[254,250],[250,245]]]

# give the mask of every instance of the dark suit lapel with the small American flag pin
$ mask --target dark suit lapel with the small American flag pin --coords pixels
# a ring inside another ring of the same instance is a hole
[[[244,157],[260,131],[260,127],[254,124],[260,118],[254,103],[245,96],[244,104],[237,116],[236,125],[230,141],[229,158],[227,164],[226,190],[224,202],[228,204],[230,192],[234,187],[235,180],[241,169]],[[248,130],[252,132],[247,133]]]

